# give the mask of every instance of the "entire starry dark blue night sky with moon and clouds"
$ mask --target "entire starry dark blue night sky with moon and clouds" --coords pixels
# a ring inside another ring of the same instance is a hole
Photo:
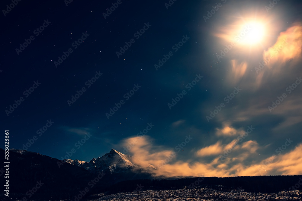
[[[165,176],[302,174],[301,1],[16,2],[1,2],[10,148],[113,148]]]

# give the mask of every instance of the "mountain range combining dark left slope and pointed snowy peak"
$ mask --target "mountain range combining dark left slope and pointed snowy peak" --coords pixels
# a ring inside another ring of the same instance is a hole
[[[1,154],[4,155],[4,152],[4,149],[0,149]],[[153,165],[114,149],[89,162],[80,160],[62,162],[36,152],[18,149],[9,149],[9,156],[10,164],[14,164],[12,166],[9,164],[9,171],[13,173],[9,174],[9,181],[14,184],[10,189],[16,195],[18,193],[25,195],[28,190],[37,185],[37,182],[41,182],[43,186],[39,189],[39,193],[50,197],[53,192],[57,195],[64,194],[64,199],[70,200],[74,199],[72,195],[86,187],[91,187],[89,193],[93,193],[94,190],[97,192],[120,181],[153,179],[155,177],[152,172],[156,171]],[[4,167],[0,168],[0,175],[3,175],[3,172],[5,172]],[[99,179],[98,182],[96,178]]]

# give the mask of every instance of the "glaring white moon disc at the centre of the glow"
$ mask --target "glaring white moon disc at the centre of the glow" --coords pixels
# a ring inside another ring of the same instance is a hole
[[[264,27],[261,23],[251,22],[243,26],[243,31],[241,32],[242,39],[239,43],[247,45],[257,45],[259,44],[264,36]]]

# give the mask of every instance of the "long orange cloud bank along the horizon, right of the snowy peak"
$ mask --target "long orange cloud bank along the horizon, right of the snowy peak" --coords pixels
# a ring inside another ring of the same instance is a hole
[[[187,161],[178,160],[178,152],[176,150],[166,150],[162,146],[153,146],[150,143],[151,138],[146,135],[143,137],[127,138],[123,141],[122,145],[126,147],[132,144],[133,146],[129,149],[130,153],[128,154],[140,160],[138,163],[140,162],[142,165],[145,165],[145,163],[154,165],[156,169],[152,170],[153,174],[162,177],[302,174],[302,157],[300,157],[302,144],[298,144],[294,150],[284,150],[281,155],[275,153],[275,155],[257,161],[255,158],[252,159],[252,157],[259,155],[257,154],[257,150],[259,149],[258,143],[254,140],[249,140],[234,146],[236,139],[225,145],[217,142],[198,151],[201,152],[202,150],[203,155],[209,156],[213,153],[223,154],[224,149],[233,147],[233,151],[225,160],[221,161],[218,156],[214,156],[211,162],[203,161],[203,158],[200,158],[198,162],[192,162],[192,159],[188,159]]]

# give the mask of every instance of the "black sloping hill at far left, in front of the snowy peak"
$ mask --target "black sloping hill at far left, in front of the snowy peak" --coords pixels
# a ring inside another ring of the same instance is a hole
[[[3,149],[0,149],[0,154],[4,154]],[[10,150],[9,156],[10,199],[70,199],[92,179],[92,174],[85,169],[68,163],[59,168],[59,159],[35,152],[23,151],[21,154],[17,150]],[[40,181],[39,189],[34,194],[30,193],[29,190],[36,187]]]

